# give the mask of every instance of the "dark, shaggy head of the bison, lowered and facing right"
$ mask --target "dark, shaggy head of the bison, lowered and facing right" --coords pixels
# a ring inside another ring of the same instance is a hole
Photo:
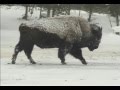
[[[90,38],[90,42],[88,43],[88,48],[90,51],[93,51],[94,49],[97,49],[99,47],[99,44],[101,42],[102,27],[99,27],[95,24],[91,24],[90,27],[92,36]]]

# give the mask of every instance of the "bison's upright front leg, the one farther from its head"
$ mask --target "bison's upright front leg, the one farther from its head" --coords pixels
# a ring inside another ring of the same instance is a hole
[[[72,48],[72,45],[68,44],[68,45],[65,45],[64,47],[60,47],[58,50],[58,57],[60,58],[61,63],[63,65],[66,64],[65,56],[70,52],[71,48]]]

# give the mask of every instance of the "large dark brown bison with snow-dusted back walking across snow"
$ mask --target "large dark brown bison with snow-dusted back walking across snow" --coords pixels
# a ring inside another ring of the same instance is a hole
[[[76,16],[59,16],[22,23],[19,31],[20,40],[15,47],[12,64],[15,64],[17,55],[22,50],[30,63],[36,64],[31,57],[33,46],[36,45],[40,48],[58,48],[58,58],[62,64],[66,64],[65,56],[69,53],[86,65],[81,48],[88,47],[90,51],[97,49],[102,37],[102,27]]]

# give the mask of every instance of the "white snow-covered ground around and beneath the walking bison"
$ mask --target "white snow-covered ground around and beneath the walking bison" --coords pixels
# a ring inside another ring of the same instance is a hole
[[[38,13],[34,17],[38,17]],[[12,65],[9,63],[19,40],[18,26],[24,22],[20,19],[23,14],[23,7],[1,7],[1,85],[120,85],[120,36],[113,34],[107,15],[93,15],[94,22],[100,23],[104,34],[99,49],[94,52],[83,49],[87,66],[70,55],[66,56],[68,64],[61,65],[57,49],[36,46],[32,53],[36,65],[29,63],[24,52]],[[81,11],[81,16],[87,17],[87,13]]]

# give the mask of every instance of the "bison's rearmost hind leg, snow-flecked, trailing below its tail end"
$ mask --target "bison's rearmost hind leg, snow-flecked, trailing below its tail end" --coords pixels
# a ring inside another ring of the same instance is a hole
[[[17,58],[17,55],[20,51],[22,51],[23,48],[21,46],[21,43],[19,42],[16,46],[15,46],[15,49],[14,49],[14,54],[12,56],[12,64],[15,64],[15,61],[16,61],[16,58]]]

